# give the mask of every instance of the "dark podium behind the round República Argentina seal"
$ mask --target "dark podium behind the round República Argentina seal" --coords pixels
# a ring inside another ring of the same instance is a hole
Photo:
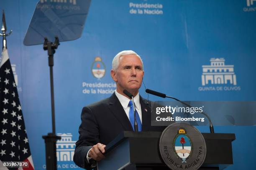
[[[200,170],[221,170],[233,164],[235,134],[202,133],[207,155]],[[161,132],[124,131],[106,146],[98,170],[169,170],[159,152]]]

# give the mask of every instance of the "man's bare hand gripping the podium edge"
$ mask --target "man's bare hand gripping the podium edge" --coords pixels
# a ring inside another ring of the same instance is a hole
[[[97,143],[89,151],[88,156],[97,161],[104,159],[105,156],[103,155],[103,153],[105,153],[105,147],[106,147],[106,145],[103,145],[102,143]]]

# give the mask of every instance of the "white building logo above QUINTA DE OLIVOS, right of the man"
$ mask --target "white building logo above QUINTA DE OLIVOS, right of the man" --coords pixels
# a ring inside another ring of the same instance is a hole
[[[234,65],[225,65],[224,58],[211,58],[211,65],[202,65],[202,85],[236,85]]]

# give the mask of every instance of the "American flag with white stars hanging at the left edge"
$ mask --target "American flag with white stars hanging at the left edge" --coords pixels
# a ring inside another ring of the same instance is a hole
[[[3,49],[0,62],[0,169],[34,170],[28,136],[13,77],[8,51]],[[6,168],[5,161],[27,161],[28,168]]]

